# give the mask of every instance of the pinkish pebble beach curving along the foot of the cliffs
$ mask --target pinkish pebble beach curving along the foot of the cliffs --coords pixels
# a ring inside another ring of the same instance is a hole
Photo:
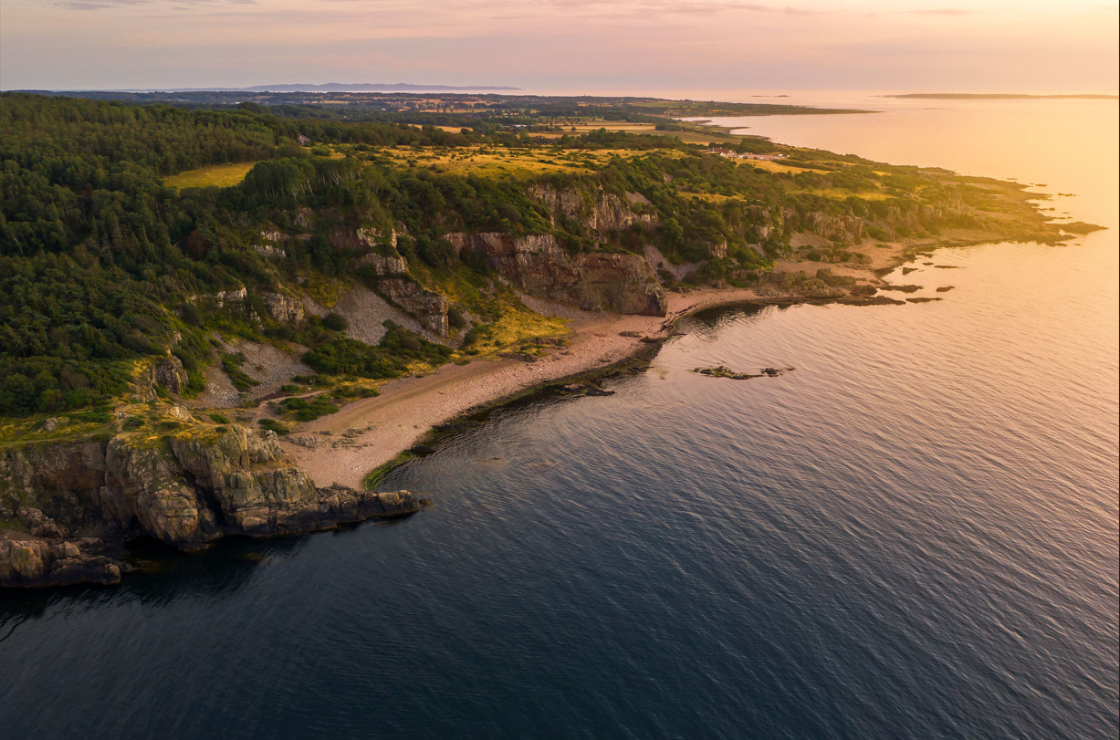
[[[976,246],[1007,241],[983,231],[959,230],[935,240],[881,244],[871,242],[855,247],[871,257],[871,263],[851,268],[829,265],[837,274],[857,277],[877,283],[893,270],[930,255],[934,250]],[[816,263],[780,261],[775,272],[815,271]],[[302,424],[280,447],[316,486],[342,485],[363,489],[394,465],[403,462],[407,451],[430,437],[435,427],[480,413],[508,403],[516,397],[548,385],[563,383],[588,374],[600,374],[631,362],[656,340],[656,346],[673,334],[675,322],[693,312],[736,303],[801,305],[844,303],[856,306],[905,305],[903,294],[893,297],[841,296],[813,298],[772,289],[755,288],[688,288],[687,292],[669,292],[665,317],[618,315],[606,311],[587,313],[557,306],[559,313],[578,315],[569,329],[571,345],[549,348],[538,362],[508,357],[485,357],[468,365],[444,365],[422,376],[395,378],[381,386],[381,395],[361,399],[343,406],[337,413]],[[533,301],[534,308],[548,311],[545,301]],[[637,336],[622,336],[620,332]],[[308,446],[310,444],[310,446]]]

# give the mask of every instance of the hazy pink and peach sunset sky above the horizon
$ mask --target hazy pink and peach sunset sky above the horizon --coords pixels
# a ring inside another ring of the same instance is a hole
[[[1118,88],[1118,0],[2,0],[0,88]]]

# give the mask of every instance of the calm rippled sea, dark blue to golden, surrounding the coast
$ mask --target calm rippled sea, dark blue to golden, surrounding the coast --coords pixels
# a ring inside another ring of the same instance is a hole
[[[0,736],[1114,738],[1117,104],[880,107],[740,123],[1110,231],[939,251],[941,302],[698,316],[400,469],[403,522],[3,593]]]

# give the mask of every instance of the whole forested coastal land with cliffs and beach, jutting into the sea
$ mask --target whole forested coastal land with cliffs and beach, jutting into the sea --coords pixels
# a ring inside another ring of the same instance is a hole
[[[413,514],[385,466],[532,388],[604,393],[689,311],[909,306],[883,277],[916,253],[1092,228],[680,120],[793,106],[207,95],[0,96],[0,586]]]

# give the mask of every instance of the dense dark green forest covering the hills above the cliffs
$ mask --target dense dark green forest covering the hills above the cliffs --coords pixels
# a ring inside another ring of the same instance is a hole
[[[202,367],[220,362],[209,330],[290,337],[290,327],[269,317],[261,291],[282,292],[308,274],[357,274],[353,252],[332,237],[343,226],[407,233],[398,249],[420,271],[483,270],[459,262],[444,238],[451,231],[554,234],[573,252],[637,251],[652,242],[671,259],[692,261],[706,256],[707,245],[727,243],[727,257],[706,268],[719,278],[736,268],[766,268],[778,254],[785,233],[758,236],[778,210],[788,231],[811,212],[913,207],[911,170],[884,177],[870,162],[825,152],[794,175],[740,167],[661,135],[601,130],[545,141],[483,120],[455,132],[388,114],[363,121],[278,114],[300,111],[0,94],[0,415],[103,403],[124,391],[137,359],[169,352],[197,391]],[[300,146],[301,138],[312,146]],[[738,146],[759,148],[774,149],[757,139]],[[384,156],[457,150],[609,156],[529,179],[441,172]],[[255,162],[234,187],[164,184],[232,162]],[[551,214],[532,197],[530,188],[540,185],[641,194],[657,226],[587,233],[578,219]],[[937,197],[934,186],[922,186],[926,198]],[[829,188],[850,197],[823,195]],[[880,195],[864,199],[867,189]],[[288,242],[282,264],[252,249],[262,230],[307,231],[308,213],[312,233]],[[758,243],[762,252],[753,246]],[[249,294],[237,307],[206,300],[241,287]],[[308,360],[323,372],[392,376],[404,372],[408,353],[419,352],[416,343],[402,344],[403,330],[370,350],[318,321],[309,318],[299,332],[311,347]],[[423,347],[418,357],[446,359],[447,353]]]

